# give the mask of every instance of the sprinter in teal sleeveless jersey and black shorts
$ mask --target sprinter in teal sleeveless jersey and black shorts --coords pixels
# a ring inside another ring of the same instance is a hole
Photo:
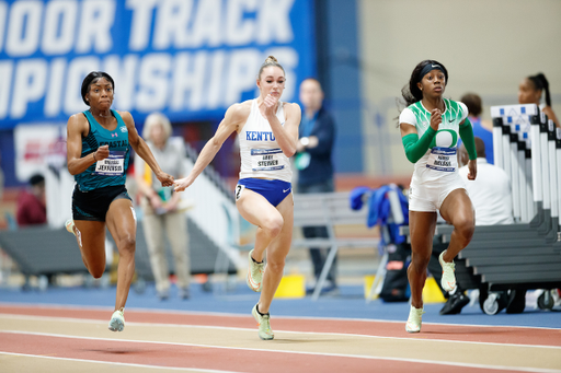
[[[67,230],[77,237],[88,271],[100,278],[105,270],[105,225],[119,254],[115,312],[108,328],[125,327],[124,307],[135,273],[136,219],[125,188],[129,145],[148,163],[163,186],[173,177],[163,173],[146,142],[138,136],[128,112],[111,109],[113,79],[92,71],[82,82],[82,100],[89,110],[68,119],[68,171],[75,175],[72,220]]]

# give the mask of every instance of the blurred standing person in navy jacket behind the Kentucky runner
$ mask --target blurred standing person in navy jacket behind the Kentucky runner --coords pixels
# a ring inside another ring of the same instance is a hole
[[[304,105],[304,115],[299,127],[299,140],[296,144],[297,191],[301,194],[333,191],[335,188],[332,151],[335,124],[331,114],[323,107],[323,91],[318,80],[309,78],[301,82],[300,102]],[[302,233],[307,238],[329,236],[325,226],[305,226]],[[317,283],[328,257],[328,249],[310,247],[310,256]],[[330,283],[322,289],[322,292],[337,291],[335,272],[336,256],[327,278]],[[308,293],[313,290],[308,290]]]

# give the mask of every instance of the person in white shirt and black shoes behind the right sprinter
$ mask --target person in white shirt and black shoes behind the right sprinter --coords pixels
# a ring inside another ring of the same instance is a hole
[[[476,137],[476,151],[478,161],[478,178],[468,179],[468,152],[463,144],[459,150],[460,164],[458,170],[460,177],[466,180],[473,208],[476,209],[476,225],[513,224],[513,201],[511,198],[511,180],[503,168],[486,161],[485,143]],[[434,252],[431,258],[430,270],[437,279],[440,276],[438,259]],[[440,310],[440,315],[459,314],[461,308],[469,303],[469,298],[463,293],[465,289],[458,282],[456,289],[448,292],[448,301]]]

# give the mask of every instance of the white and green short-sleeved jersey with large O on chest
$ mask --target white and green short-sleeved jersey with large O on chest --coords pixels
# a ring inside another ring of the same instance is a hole
[[[456,148],[459,140],[459,125],[468,117],[469,112],[463,103],[443,100],[446,106],[442,115],[443,121],[425,155],[415,163],[413,180],[425,182],[458,173]],[[401,112],[399,123],[415,126],[421,138],[431,126],[431,113],[419,101]]]

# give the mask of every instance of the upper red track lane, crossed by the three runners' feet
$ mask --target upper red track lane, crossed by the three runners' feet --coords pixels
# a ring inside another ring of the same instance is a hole
[[[37,307],[0,305],[0,314],[33,315],[48,317],[71,317],[83,319],[107,320],[111,311],[94,311],[70,307]],[[225,326],[255,328],[251,315],[216,316],[204,314],[182,314],[172,312],[126,311],[126,320],[130,323],[157,323],[176,325]],[[342,333],[377,337],[401,337],[414,339],[458,340],[488,343],[512,343],[530,346],[561,347],[561,329],[512,328],[501,326],[468,326],[423,324],[423,331],[411,335],[405,331],[404,323],[336,320],[336,319],[297,319],[272,317],[274,330]]]

